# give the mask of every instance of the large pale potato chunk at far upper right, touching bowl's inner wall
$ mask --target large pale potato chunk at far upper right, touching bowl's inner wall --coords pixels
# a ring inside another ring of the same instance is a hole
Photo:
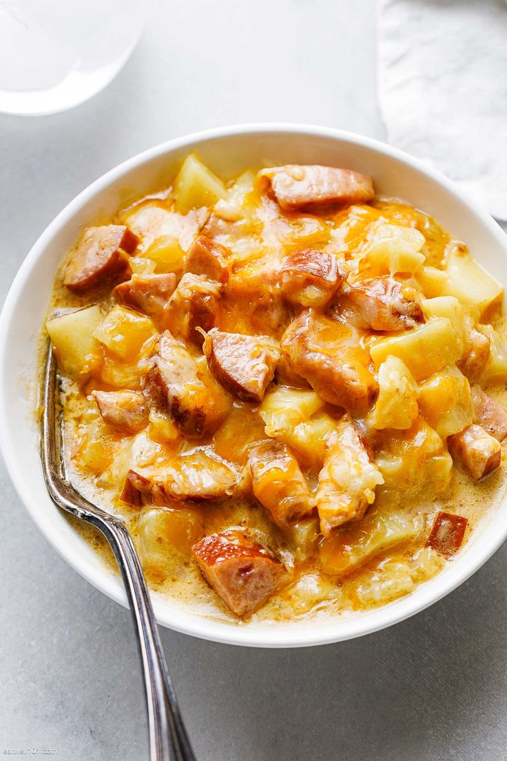
[[[446,272],[448,284],[444,295],[455,296],[461,304],[467,304],[477,319],[502,298],[503,286],[477,264],[464,247],[452,247]]]

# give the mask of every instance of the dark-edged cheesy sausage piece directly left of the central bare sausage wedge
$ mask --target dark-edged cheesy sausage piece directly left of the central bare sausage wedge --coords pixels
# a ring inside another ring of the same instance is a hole
[[[198,377],[195,360],[169,330],[157,341],[157,352],[147,362],[141,388],[148,404],[169,415],[189,438],[201,438],[218,422],[216,405]]]

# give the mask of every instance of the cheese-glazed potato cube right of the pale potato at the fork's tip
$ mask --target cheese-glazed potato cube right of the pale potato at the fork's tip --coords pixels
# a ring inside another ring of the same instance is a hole
[[[93,335],[120,359],[138,358],[141,346],[156,333],[149,317],[116,304]]]

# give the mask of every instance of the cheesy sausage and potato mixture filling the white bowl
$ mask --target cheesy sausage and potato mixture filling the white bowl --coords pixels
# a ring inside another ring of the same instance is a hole
[[[194,611],[383,605],[502,496],[502,286],[374,179],[191,154],[57,276],[72,479]]]

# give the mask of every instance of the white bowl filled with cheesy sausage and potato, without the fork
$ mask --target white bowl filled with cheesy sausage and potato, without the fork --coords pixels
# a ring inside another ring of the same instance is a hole
[[[507,535],[506,259],[445,177],[358,135],[235,126],[145,151],[55,218],[5,301],[14,486],[125,604],[44,487],[49,336],[71,479],[125,521],[160,624],[292,647],[405,619]]]

